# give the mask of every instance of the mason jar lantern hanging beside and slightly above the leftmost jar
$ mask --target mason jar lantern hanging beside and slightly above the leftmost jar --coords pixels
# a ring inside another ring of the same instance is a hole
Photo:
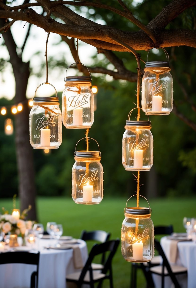
[[[87,66],[85,67],[87,68]],[[89,72],[90,77],[67,77],[67,70],[65,89],[62,95],[63,124],[66,128],[90,128],[94,122],[94,96],[91,90],[91,74]]]

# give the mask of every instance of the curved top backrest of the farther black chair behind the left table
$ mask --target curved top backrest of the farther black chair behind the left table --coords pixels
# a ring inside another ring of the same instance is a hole
[[[85,231],[83,230],[80,236],[80,239],[87,241],[87,240],[94,240],[98,242],[106,242],[110,237],[110,233],[105,232],[103,230],[94,230],[94,231]]]

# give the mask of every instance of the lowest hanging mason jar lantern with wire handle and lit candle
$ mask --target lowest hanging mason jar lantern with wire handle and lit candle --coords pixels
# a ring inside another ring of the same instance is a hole
[[[127,207],[127,202],[121,229],[122,255],[129,262],[148,262],[154,256],[154,225],[150,218],[150,205],[149,208]]]

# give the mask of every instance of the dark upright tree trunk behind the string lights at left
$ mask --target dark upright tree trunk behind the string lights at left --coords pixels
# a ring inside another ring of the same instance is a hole
[[[29,63],[22,63],[17,71],[14,69],[16,80],[16,103],[26,100],[26,87],[29,77]],[[22,80],[22,81],[21,81]],[[23,110],[16,114],[16,157],[19,177],[20,209],[26,209],[30,204],[32,209],[28,212],[28,219],[36,220],[35,197],[36,188],[34,180],[34,164],[32,146],[29,142],[29,108],[27,101]]]

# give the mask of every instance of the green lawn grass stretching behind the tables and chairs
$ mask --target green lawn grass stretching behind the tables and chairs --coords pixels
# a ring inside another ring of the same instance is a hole
[[[120,238],[122,221],[124,219],[125,198],[104,197],[99,205],[79,205],[65,197],[37,198],[37,213],[40,223],[46,227],[48,221],[63,224],[64,235],[80,237],[85,230],[105,230],[111,233],[111,238]],[[128,206],[134,206],[134,200],[129,200]],[[154,226],[174,226],[175,232],[185,232],[182,226],[183,217],[196,217],[196,197],[192,198],[158,198],[149,201],[152,209],[151,219]],[[129,205],[130,204],[130,205]],[[18,204],[19,205],[19,204]],[[140,200],[140,206],[146,207],[146,202]],[[9,211],[12,209],[11,199],[0,199],[0,207]],[[114,288],[127,288],[130,285],[131,264],[121,255],[121,247],[113,259]],[[138,288],[145,287],[145,280],[138,274]],[[103,287],[109,287],[107,281]]]

